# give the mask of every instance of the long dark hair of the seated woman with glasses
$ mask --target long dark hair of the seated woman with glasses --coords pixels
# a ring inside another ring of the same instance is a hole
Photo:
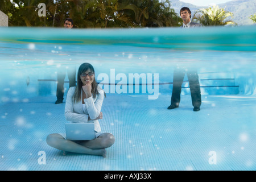
[[[77,84],[76,84],[76,89],[75,89],[75,93],[73,94],[73,101],[74,102],[79,102],[81,101],[81,90],[82,90],[82,81],[80,79],[80,75],[84,72],[86,72],[88,69],[90,69],[90,71],[94,72],[94,68],[91,64],[89,63],[83,63],[80,65],[79,70],[77,72]],[[98,94],[98,84],[95,80],[95,76],[92,82],[92,96],[93,98],[96,97],[96,94]]]

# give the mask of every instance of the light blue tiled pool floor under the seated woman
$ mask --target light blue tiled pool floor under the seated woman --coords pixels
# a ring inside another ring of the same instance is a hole
[[[65,103],[55,96],[1,105],[0,170],[255,170],[256,97],[202,96],[200,111],[191,97],[167,110],[170,95],[108,95],[102,131],[115,143],[101,156],[67,153],[47,145],[64,132]],[[65,100],[64,100],[65,102]],[[43,153],[42,153],[43,152]]]

